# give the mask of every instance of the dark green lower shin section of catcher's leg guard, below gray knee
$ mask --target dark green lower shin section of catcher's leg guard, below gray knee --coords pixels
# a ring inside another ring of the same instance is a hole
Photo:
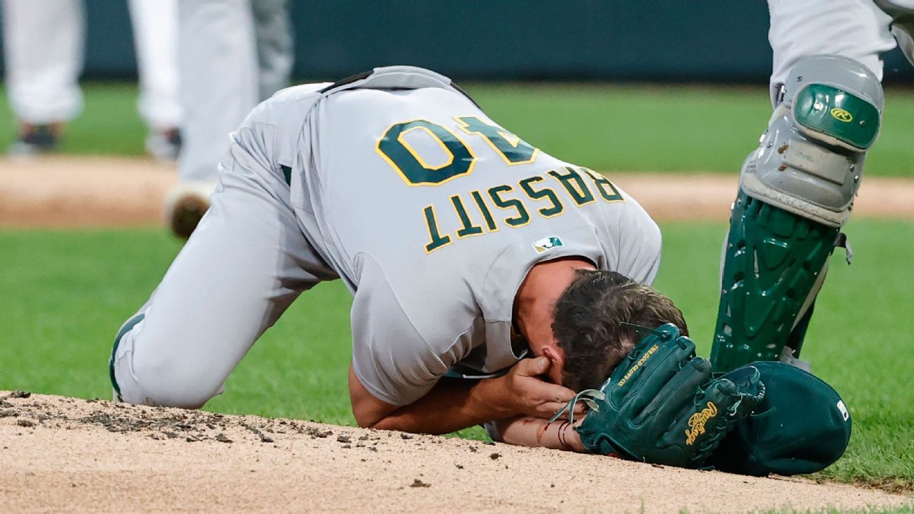
[[[777,360],[834,251],[838,228],[749,197],[733,206],[711,364]]]

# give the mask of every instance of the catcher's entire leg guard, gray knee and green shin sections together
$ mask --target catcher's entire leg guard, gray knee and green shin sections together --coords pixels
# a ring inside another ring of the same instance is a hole
[[[739,175],[711,364],[729,371],[798,349],[824,265],[851,214],[883,92],[863,64],[797,60]]]

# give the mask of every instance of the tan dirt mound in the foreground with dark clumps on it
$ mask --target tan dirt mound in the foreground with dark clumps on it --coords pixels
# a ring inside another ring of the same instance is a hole
[[[4,513],[697,513],[909,501],[798,478],[0,391]]]

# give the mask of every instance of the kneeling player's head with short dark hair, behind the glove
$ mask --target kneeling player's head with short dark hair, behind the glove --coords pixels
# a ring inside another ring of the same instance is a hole
[[[641,336],[630,325],[672,323],[688,336],[683,313],[664,294],[615,272],[577,270],[558,298],[552,332],[564,352],[562,385],[596,389]]]

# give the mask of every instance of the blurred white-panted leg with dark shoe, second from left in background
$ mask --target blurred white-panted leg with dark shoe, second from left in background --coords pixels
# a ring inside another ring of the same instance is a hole
[[[175,160],[180,149],[182,108],[178,97],[177,0],[130,0],[133,44],[140,75],[137,102],[149,127],[146,151]]]

